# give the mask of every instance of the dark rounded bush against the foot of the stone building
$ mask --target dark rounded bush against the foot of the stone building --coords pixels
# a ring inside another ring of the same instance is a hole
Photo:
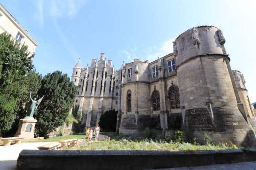
[[[117,122],[117,111],[108,110],[99,118],[99,126],[105,132],[115,132]]]

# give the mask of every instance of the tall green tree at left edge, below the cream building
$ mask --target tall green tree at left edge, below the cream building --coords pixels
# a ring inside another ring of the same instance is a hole
[[[11,129],[26,93],[26,74],[33,68],[27,46],[11,39],[7,33],[0,34],[0,135]]]

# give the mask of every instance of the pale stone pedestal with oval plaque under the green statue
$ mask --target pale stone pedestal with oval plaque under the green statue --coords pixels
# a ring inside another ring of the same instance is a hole
[[[20,119],[15,137],[34,138],[35,119]]]

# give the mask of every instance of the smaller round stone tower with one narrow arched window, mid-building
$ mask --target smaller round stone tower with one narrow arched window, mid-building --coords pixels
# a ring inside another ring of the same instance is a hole
[[[137,136],[150,126],[148,63],[134,59],[122,70],[121,121],[119,133]]]

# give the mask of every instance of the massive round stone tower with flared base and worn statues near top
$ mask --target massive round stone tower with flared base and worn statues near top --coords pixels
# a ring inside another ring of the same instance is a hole
[[[193,27],[174,41],[183,127],[199,142],[255,145],[255,133],[238,109],[225,38],[214,26]]]

